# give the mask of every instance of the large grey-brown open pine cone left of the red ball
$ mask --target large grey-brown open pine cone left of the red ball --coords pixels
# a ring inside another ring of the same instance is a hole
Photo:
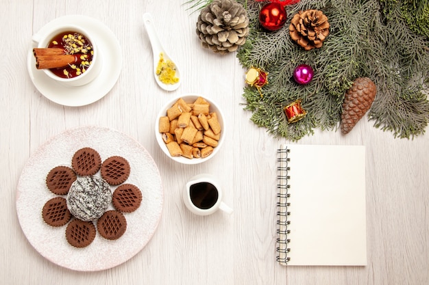
[[[249,34],[249,18],[243,5],[234,0],[214,0],[198,16],[201,44],[216,53],[236,51]]]

